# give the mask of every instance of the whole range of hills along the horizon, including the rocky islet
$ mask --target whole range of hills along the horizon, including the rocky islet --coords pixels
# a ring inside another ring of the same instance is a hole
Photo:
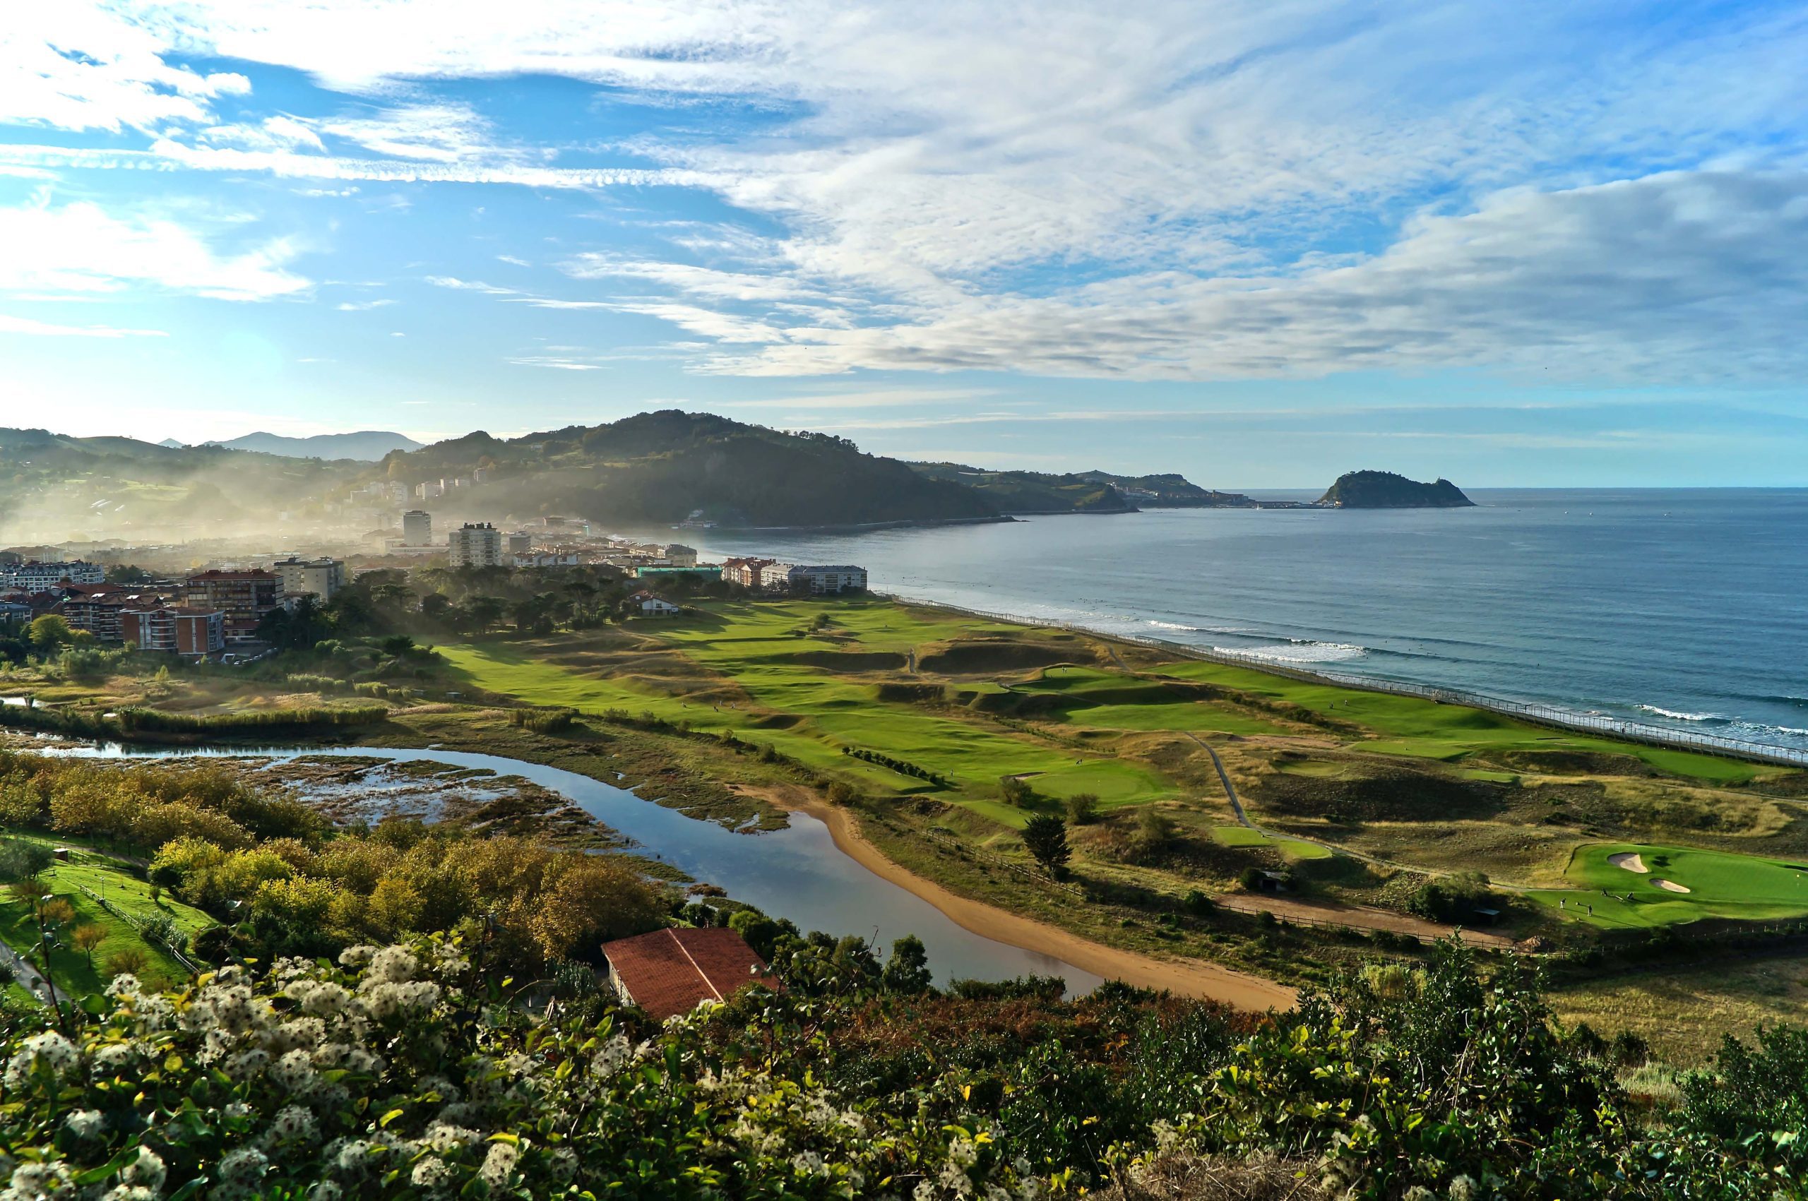
[[[184,447],[0,429],[0,543],[268,535],[271,519],[284,515],[329,519],[349,488],[378,479],[409,488],[461,481],[466,487],[416,501],[450,519],[575,514],[617,528],[689,519],[729,528],[852,528],[1139,508],[1470,505],[1446,479],[1416,483],[1389,472],[1351,472],[1320,501],[1302,505],[1201,488],[1177,474],[904,463],[830,434],[673,409],[523,438],[477,430],[427,447],[380,430],[260,432]]]

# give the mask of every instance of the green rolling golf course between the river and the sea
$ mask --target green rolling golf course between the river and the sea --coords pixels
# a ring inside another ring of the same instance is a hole
[[[1287,866],[1327,904],[1394,906],[1401,881],[1481,874],[1522,928],[1808,912],[1786,868],[1808,856],[1797,772],[1081,631],[880,599],[705,600],[438,649],[470,689],[768,747],[900,830],[1007,861],[1029,863],[1029,818],[1083,814],[1074,863],[1114,886],[1231,890]],[[1609,865],[1613,839],[1669,856],[1672,888]]]

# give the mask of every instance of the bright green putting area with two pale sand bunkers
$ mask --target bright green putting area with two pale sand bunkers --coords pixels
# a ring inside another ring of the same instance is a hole
[[[1645,872],[1611,863],[1638,856]],[[1595,926],[1671,926],[1703,917],[1772,921],[1808,915],[1808,865],[1643,843],[1577,848],[1566,875],[1577,888],[1528,895]],[[1672,892],[1658,881],[1687,888]],[[1631,901],[1627,901],[1631,897]],[[1593,910],[1593,913],[1589,912]]]

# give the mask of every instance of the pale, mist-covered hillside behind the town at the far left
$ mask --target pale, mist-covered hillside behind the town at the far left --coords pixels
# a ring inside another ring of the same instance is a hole
[[[226,447],[161,447],[0,429],[0,543],[114,535],[230,537],[293,510],[354,472]]]

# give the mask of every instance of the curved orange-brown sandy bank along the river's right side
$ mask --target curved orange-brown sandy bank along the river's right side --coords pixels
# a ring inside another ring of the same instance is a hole
[[[873,875],[922,897],[938,908],[956,926],[985,939],[996,939],[1009,946],[1054,955],[1076,968],[1092,971],[1112,980],[1125,980],[1139,988],[1157,988],[1182,997],[1204,997],[1222,1000],[1238,1009],[1291,1009],[1295,989],[1264,980],[1262,977],[1231,971],[1219,964],[1197,959],[1155,959],[1137,951],[1125,951],[1081,939],[1058,926],[1020,917],[984,901],[973,901],[942,888],[913,872],[886,859],[884,854],[861,836],[859,821],[852,812],[826,805],[803,789],[736,785],[736,790],[763,798],[781,809],[805,812],[823,821],[828,834],[850,859],[864,866]]]

